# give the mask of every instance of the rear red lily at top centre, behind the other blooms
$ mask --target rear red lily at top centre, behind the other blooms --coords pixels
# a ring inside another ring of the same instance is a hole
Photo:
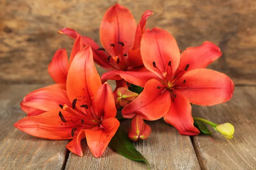
[[[137,79],[140,86],[145,85],[145,79],[157,78],[150,71],[143,68],[140,56],[140,40],[145,30],[147,18],[154,14],[152,11],[145,11],[136,28],[134,17],[128,8],[119,5],[112,6],[105,13],[100,24],[100,41],[104,48],[99,48],[89,37],[82,37],[84,46],[91,45],[94,61],[102,68],[113,70],[102,75],[102,80],[129,80]],[[63,28],[58,31],[60,34],[67,34],[76,38],[80,34],[71,28]],[[143,71],[137,72],[137,68]],[[119,74],[121,71],[131,71],[130,74]],[[143,81],[142,81],[143,80]],[[116,89],[123,87],[125,82],[116,83]],[[116,90],[115,90],[116,91]]]

